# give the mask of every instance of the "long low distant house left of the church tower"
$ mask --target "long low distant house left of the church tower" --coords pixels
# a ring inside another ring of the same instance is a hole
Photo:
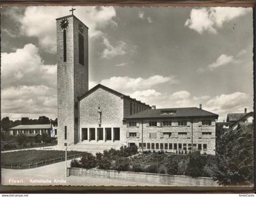
[[[23,134],[51,134],[52,125],[18,125],[10,128],[10,136],[16,136],[19,133]]]

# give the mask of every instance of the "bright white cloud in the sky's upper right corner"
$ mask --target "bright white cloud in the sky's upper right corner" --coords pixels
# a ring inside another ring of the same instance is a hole
[[[217,33],[224,23],[232,21],[239,16],[252,12],[251,8],[243,7],[211,7],[192,9],[190,19],[185,26],[202,34],[203,32]]]

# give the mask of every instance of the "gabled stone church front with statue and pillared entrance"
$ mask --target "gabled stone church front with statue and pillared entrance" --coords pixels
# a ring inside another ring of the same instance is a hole
[[[137,106],[138,112],[139,108],[141,110],[142,108],[144,110],[150,108],[149,105],[124,96],[119,92],[112,92],[111,89],[110,91],[109,89],[106,90],[102,85],[98,85],[98,88],[96,86],[93,91],[79,101],[80,142],[119,141],[120,144],[127,145],[124,116],[130,114],[131,104],[133,106],[132,114],[134,105],[135,113],[137,113]],[[101,111],[100,122],[99,110]],[[117,134],[118,132],[119,134]],[[92,133],[95,133],[95,136]]]

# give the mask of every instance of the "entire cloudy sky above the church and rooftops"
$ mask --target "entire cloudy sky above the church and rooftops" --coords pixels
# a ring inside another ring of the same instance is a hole
[[[1,116],[57,117],[55,18],[71,7],[1,9]],[[75,7],[89,27],[90,88],[219,114],[252,111],[252,9]]]

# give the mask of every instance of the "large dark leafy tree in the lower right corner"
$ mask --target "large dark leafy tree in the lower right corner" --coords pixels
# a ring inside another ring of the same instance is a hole
[[[254,183],[254,125],[239,123],[219,137],[218,168],[213,178],[221,185]]]

